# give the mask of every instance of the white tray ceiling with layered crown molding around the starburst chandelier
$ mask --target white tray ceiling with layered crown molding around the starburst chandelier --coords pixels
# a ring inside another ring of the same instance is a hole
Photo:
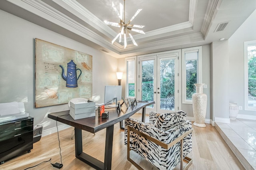
[[[119,28],[104,23],[119,22],[112,1],[118,11],[119,3],[124,5],[123,0],[1,0],[0,9],[117,58],[228,39],[256,9],[255,0],[126,0],[125,20],[142,8],[131,24],[144,25],[146,34],[131,32],[138,46],[127,38],[124,49],[124,42],[111,44]],[[216,31],[220,25],[226,26]]]

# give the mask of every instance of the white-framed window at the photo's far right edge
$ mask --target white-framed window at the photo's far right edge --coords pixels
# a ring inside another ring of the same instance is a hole
[[[244,110],[256,111],[256,41],[244,42]]]

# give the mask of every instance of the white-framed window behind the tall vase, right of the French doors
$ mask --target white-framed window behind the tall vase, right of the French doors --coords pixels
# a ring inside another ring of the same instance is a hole
[[[182,49],[182,103],[192,104],[194,83],[202,83],[202,46]]]

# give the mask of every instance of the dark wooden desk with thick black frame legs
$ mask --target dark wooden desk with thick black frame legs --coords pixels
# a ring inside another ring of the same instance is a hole
[[[142,109],[142,121],[145,122],[146,106],[152,105],[154,103],[154,101],[150,101],[148,103],[138,103],[133,108],[129,107],[128,109],[123,106],[120,113],[116,111],[116,108],[106,109],[106,111],[109,111],[108,119],[101,119],[101,117],[88,117],[84,119],[74,120],[70,115],[66,115],[69,114],[69,110],[50,113],[48,114],[48,118],[75,127],[76,158],[82,160],[83,162],[92,166],[95,169],[111,170],[114,124],[121,122],[128,117],[131,117],[140,109]],[[98,113],[98,111],[96,112]],[[104,162],[101,162],[100,160],[97,160],[96,158],[83,152],[82,130],[95,133],[104,128],[106,128],[105,157]]]

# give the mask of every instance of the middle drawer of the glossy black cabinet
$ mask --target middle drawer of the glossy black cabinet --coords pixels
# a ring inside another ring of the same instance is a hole
[[[23,133],[26,133],[29,131],[33,131],[33,125],[27,126],[27,127],[22,127],[22,128],[16,128],[14,130],[9,130],[6,132],[2,132],[2,133],[0,133],[0,141],[18,136],[19,134],[23,134]]]

